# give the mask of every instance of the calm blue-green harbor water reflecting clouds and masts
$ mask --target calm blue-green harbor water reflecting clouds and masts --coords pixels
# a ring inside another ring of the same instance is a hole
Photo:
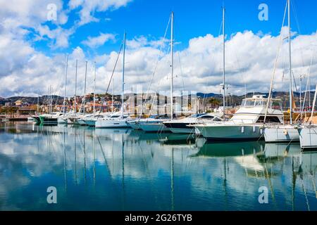
[[[316,169],[299,143],[0,124],[0,210],[317,210]]]

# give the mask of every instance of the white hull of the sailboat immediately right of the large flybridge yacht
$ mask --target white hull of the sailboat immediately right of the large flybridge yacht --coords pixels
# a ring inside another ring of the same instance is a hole
[[[299,141],[298,130],[291,126],[266,127],[264,129],[266,142],[290,142]]]

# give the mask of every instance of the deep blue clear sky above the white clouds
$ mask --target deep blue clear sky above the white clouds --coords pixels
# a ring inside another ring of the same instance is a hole
[[[268,5],[268,21],[260,21],[258,14],[259,4]],[[292,1],[292,31],[297,31],[300,34],[311,34],[316,31],[317,20],[315,10],[317,2],[306,0],[305,4],[302,1]],[[110,10],[106,12],[94,12],[94,16],[99,18],[99,23],[88,23],[78,27],[76,32],[70,37],[70,46],[66,49],[54,49],[48,47],[48,41],[38,41],[34,44],[36,49],[46,51],[47,53],[67,52],[76,46],[81,46],[82,49],[94,53],[109,53],[117,51],[120,46],[120,39],[123,37],[125,30],[128,39],[137,36],[148,36],[159,38],[163,37],[166,29],[170,12],[175,13],[175,41],[180,42],[176,47],[177,50],[182,50],[188,46],[189,39],[192,37],[204,36],[213,34],[218,36],[222,6],[226,8],[226,34],[234,34],[235,32],[243,32],[251,30],[254,33],[263,32],[264,34],[277,35],[280,32],[282,23],[282,15],[285,8],[285,1],[275,0],[197,0],[197,1],[181,1],[181,0],[133,0],[127,6]],[[63,4],[67,8],[68,1]],[[296,18],[294,8],[297,13]],[[78,12],[80,8],[72,11],[69,14],[68,23],[63,27],[70,28],[79,20]],[[297,21],[300,26],[297,27]],[[51,22],[44,23],[49,27],[56,27]],[[89,49],[82,41],[87,37],[97,37],[100,32],[116,34],[117,41],[109,41],[98,49]],[[32,34],[30,34],[32,35]]]

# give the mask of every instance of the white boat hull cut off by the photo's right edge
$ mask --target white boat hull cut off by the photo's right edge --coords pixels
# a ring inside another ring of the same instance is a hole
[[[317,148],[317,128],[299,128],[299,141],[301,148]]]

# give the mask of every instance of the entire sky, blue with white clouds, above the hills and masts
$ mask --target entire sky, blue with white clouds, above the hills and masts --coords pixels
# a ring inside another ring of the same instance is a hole
[[[125,92],[168,92],[172,11],[175,94],[218,94],[223,6],[228,92],[267,92],[277,56],[273,89],[288,90],[287,18],[282,27],[286,0],[0,0],[0,96],[44,95],[49,86],[54,94],[63,95],[67,54],[66,94],[75,93],[75,60],[77,94],[85,92],[85,61],[86,93],[94,91],[94,62],[96,92],[105,93],[124,32]],[[299,89],[300,75],[310,75],[310,89],[315,89],[316,6],[314,0],[291,0],[294,89]],[[260,20],[259,14],[267,18]],[[115,94],[121,92],[122,55],[113,75]]]

